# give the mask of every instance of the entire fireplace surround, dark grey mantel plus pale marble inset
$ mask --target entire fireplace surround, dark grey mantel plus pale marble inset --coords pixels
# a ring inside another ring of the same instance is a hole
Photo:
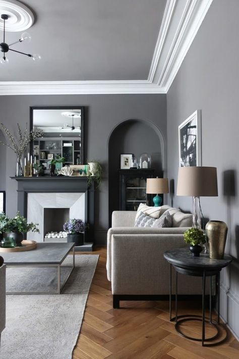
[[[18,211],[29,222],[39,223],[40,235],[31,232],[29,239],[43,240],[44,208],[69,208],[70,218],[89,224],[85,242],[94,243],[94,183],[88,188],[84,177],[11,178],[18,182]]]

